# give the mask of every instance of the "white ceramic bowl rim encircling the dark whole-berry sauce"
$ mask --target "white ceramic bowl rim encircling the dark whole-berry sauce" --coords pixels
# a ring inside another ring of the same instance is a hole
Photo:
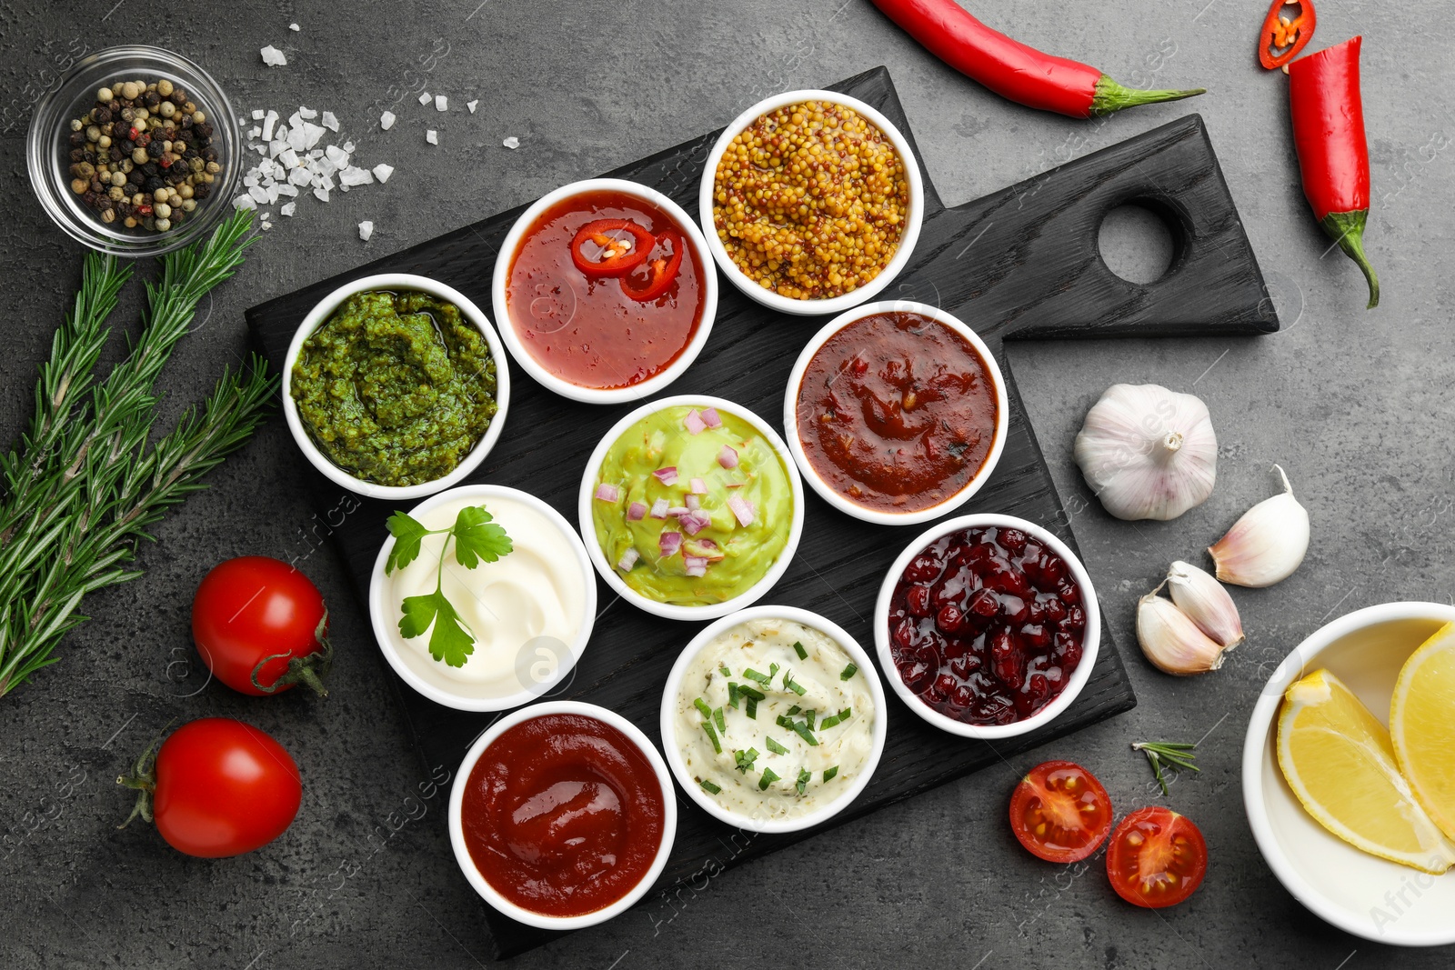
[[[965,721],[957,721],[953,717],[947,717],[946,714],[936,711],[928,704],[921,701],[920,697],[904,682],[904,678],[899,676],[899,670],[895,666],[893,652],[889,646],[889,601],[893,598],[895,586],[899,583],[899,577],[904,574],[905,567],[909,566],[909,561],[918,556],[924,547],[930,545],[941,535],[949,535],[950,532],[991,526],[1000,529],[1020,529],[1065,561],[1067,569],[1071,572],[1071,577],[1081,589],[1081,609],[1085,611],[1087,627],[1081,640],[1081,663],[1071,672],[1071,681],[1067,684],[1065,689],[1062,689],[1061,694],[1051,701],[1051,704],[1045,705],[1030,717],[1011,724],[966,724]],[[940,730],[959,734],[960,737],[979,737],[982,740],[1016,737],[1017,734],[1027,734],[1037,727],[1056,720],[1062,711],[1071,707],[1072,701],[1077,700],[1077,695],[1081,694],[1081,688],[1084,688],[1087,681],[1091,679],[1091,669],[1096,668],[1096,657],[1100,646],[1101,609],[1097,605],[1096,588],[1091,586],[1091,576],[1087,574],[1085,566],[1083,566],[1081,560],[1077,558],[1077,554],[1072,553],[1071,548],[1052,532],[1048,532],[1035,522],[1017,519],[1013,515],[962,515],[953,519],[946,519],[944,522],[921,532],[912,542],[909,542],[909,545],[905,547],[905,551],[899,554],[893,566],[889,567],[889,572],[885,574],[885,582],[879,588],[879,601],[874,604],[874,647],[879,653],[879,665],[883,668],[885,679],[889,681],[889,686],[893,688],[895,694],[904,700],[911,711]]]

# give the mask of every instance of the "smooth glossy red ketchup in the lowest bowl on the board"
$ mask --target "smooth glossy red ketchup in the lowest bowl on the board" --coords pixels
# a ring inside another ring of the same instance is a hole
[[[621,731],[543,714],[480,755],[461,803],[470,858],[522,909],[581,916],[642,881],[662,843],[656,771]]]

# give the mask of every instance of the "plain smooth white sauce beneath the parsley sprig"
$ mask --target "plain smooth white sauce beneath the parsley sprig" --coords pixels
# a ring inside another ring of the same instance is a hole
[[[511,537],[512,551],[495,563],[466,569],[455,560],[448,534],[428,535],[419,557],[384,577],[390,638],[409,668],[441,689],[466,698],[505,698],[553,682],[562,662],[578,649],[586,621],[586,582],[581,553],[563,526],[541,510],[505,496],[466,496],[412,513],[428,529],[454,525],[460,509],[483,505]],[[435,590],[439,551],[445,541],[442,589],[474,634],[474,652],[453,668],[429,654],[429,633],[404,638],[399,633],[406,596]]]

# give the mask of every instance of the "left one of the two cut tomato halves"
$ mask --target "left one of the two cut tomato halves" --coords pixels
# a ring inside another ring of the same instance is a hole
[[[1048,761],[1016,785],[1010,827],[1032,855],[1078,862],[1096,852],[1112,830],[1112,798],[1081,765]]]

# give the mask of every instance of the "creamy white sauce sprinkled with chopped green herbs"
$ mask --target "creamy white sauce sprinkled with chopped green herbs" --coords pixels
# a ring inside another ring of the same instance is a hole
[[[802,644],[808,656],[799,657],[794,644]],[[874,747],[874,718],[882,716],[874,710],[866,679],[873,672],[856,670],[844,679],[850,663],[834,638],[792,620],[749,620],[725,630],[693,659],[678,692],[675,733],[687,771],[697,784],[720,788],[713,793],[704,787],[704,791],[723,809],[749,819],[796,819],[837,801],[863,774]],[[773,670],[771,682],[744,676],[744,670],[761,675]],[[757,701],[757,717],[748,717],[749,705],[742,695],[738,707],[732,707],[732,684],[764,694]],[[714,730],[716,711],[722,708],[720,753],[703,729],[706,718],[694,704],[698,698],[714,713]],[[789,714],[793,708],[797,710]],[[825,718],[837,718],[845,708],[847,718],[824,727]],[[780,716],[803,726],[816,745],[778,723]],[[770,747],[768,739],[774,746]],[[739,769],[739,752],[746,759],[752,750],[757,756],[751,766]],[[765,787],[764,769],[777,775]],[[825,771],[834,771],[828,781]],[[800,793],[802,772],[808,778]]]

